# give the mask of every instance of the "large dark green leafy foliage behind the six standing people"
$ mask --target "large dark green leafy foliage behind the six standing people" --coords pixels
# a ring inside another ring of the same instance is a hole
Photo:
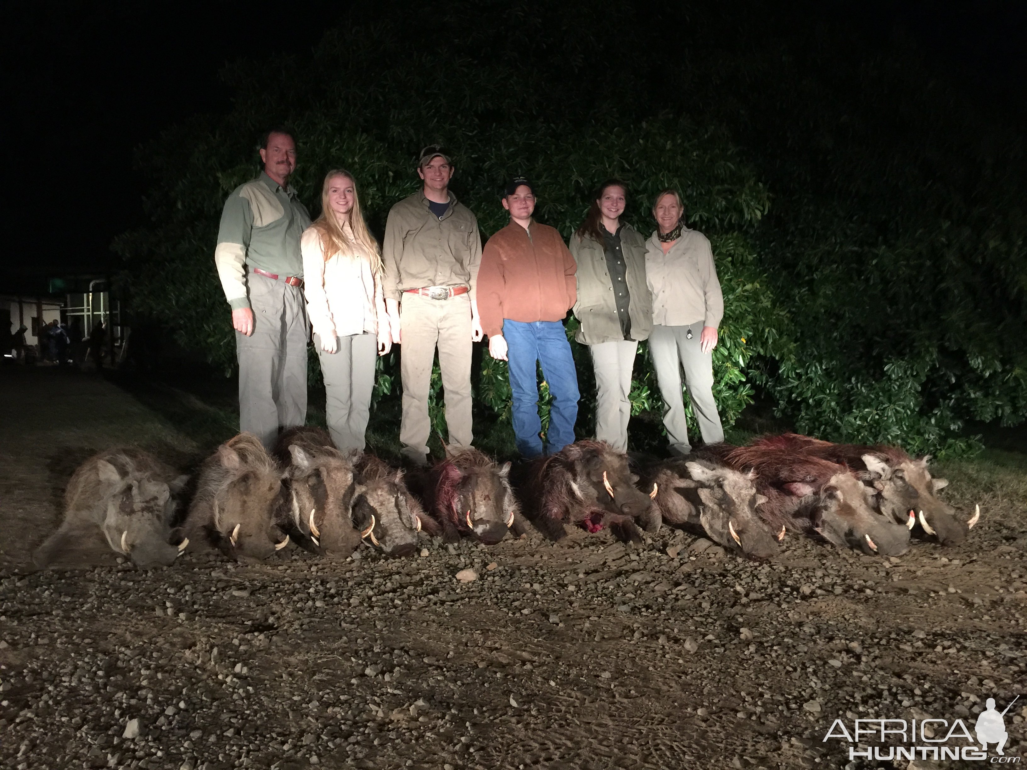
[[[627,182],[626,217],[645,235],[652,196],[678,187],[724,288],[714,361],[725,425],[762,387],[800,430],[965,451],[962,420],[1012,423],[1027,408],[1021,148],[928,87],[908,46],[875,52],[787,18],[774,29],[762,9],[630,2],[613,22],[579,0],[384,2],[308,60],[235,65],[229,114],[140,153],[150,222],[117,243],[132,306],[230,370],[213,251],[224,198],[256,174],[261,130],[295,126],[293,183],[315,216],[325,171],[352,171],[379,234],[418,187],[417,150],[442,142],[486,236],[506,223],[499,191],[517,174],[536,185],[536,219],[565,236],[603,179]],[[642,348],[633,410],[658,413]],[[592,364],[580,346],[574,355],[587,433]],[[479,359],[478,408],[508,421],[505,364]],[[379,361],[376,402],[398,397],[397,379],[393,353]]]

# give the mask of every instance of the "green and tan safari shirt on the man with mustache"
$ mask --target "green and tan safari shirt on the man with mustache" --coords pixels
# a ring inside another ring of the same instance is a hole
[[[303,277],[300,236],[310,215],[292,187],[282,188],[264,171],[239,185],[225,201],[214,262],[232,310],[250,307],[246,270],[259,268]]]

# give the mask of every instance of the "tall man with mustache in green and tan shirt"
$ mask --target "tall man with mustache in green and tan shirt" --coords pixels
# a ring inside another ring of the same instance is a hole
[[[307,322],[300,236],[310,215],[289,185],[296,142],[264,134],[264,170],[235,188],[221,215],[214,261],[232,308],[239,361],[239,428],[270,448],[307,416]]]

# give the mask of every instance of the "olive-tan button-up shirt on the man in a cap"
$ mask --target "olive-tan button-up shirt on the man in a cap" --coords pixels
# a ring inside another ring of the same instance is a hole
[[[478,220],[453,193],[449,209],[439,219],[418,191],[389,210],[382,261],[387,300],[398,300],[408,288],[467,286],[473,302],[482,264]]]

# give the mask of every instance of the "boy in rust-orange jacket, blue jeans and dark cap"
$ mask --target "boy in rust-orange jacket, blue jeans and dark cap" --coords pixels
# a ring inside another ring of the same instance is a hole
[[[489,238],[478,274],[478,309],[489,353],[508,362],[514,434],[527,458],[574,442],[578,386],[563,320],[574,306],[576,265],[560,232],[532,219],[535,194],[523,177],[502,199],[510,222]],[[553,395],[545,446],[538,416],[538,363]]]

